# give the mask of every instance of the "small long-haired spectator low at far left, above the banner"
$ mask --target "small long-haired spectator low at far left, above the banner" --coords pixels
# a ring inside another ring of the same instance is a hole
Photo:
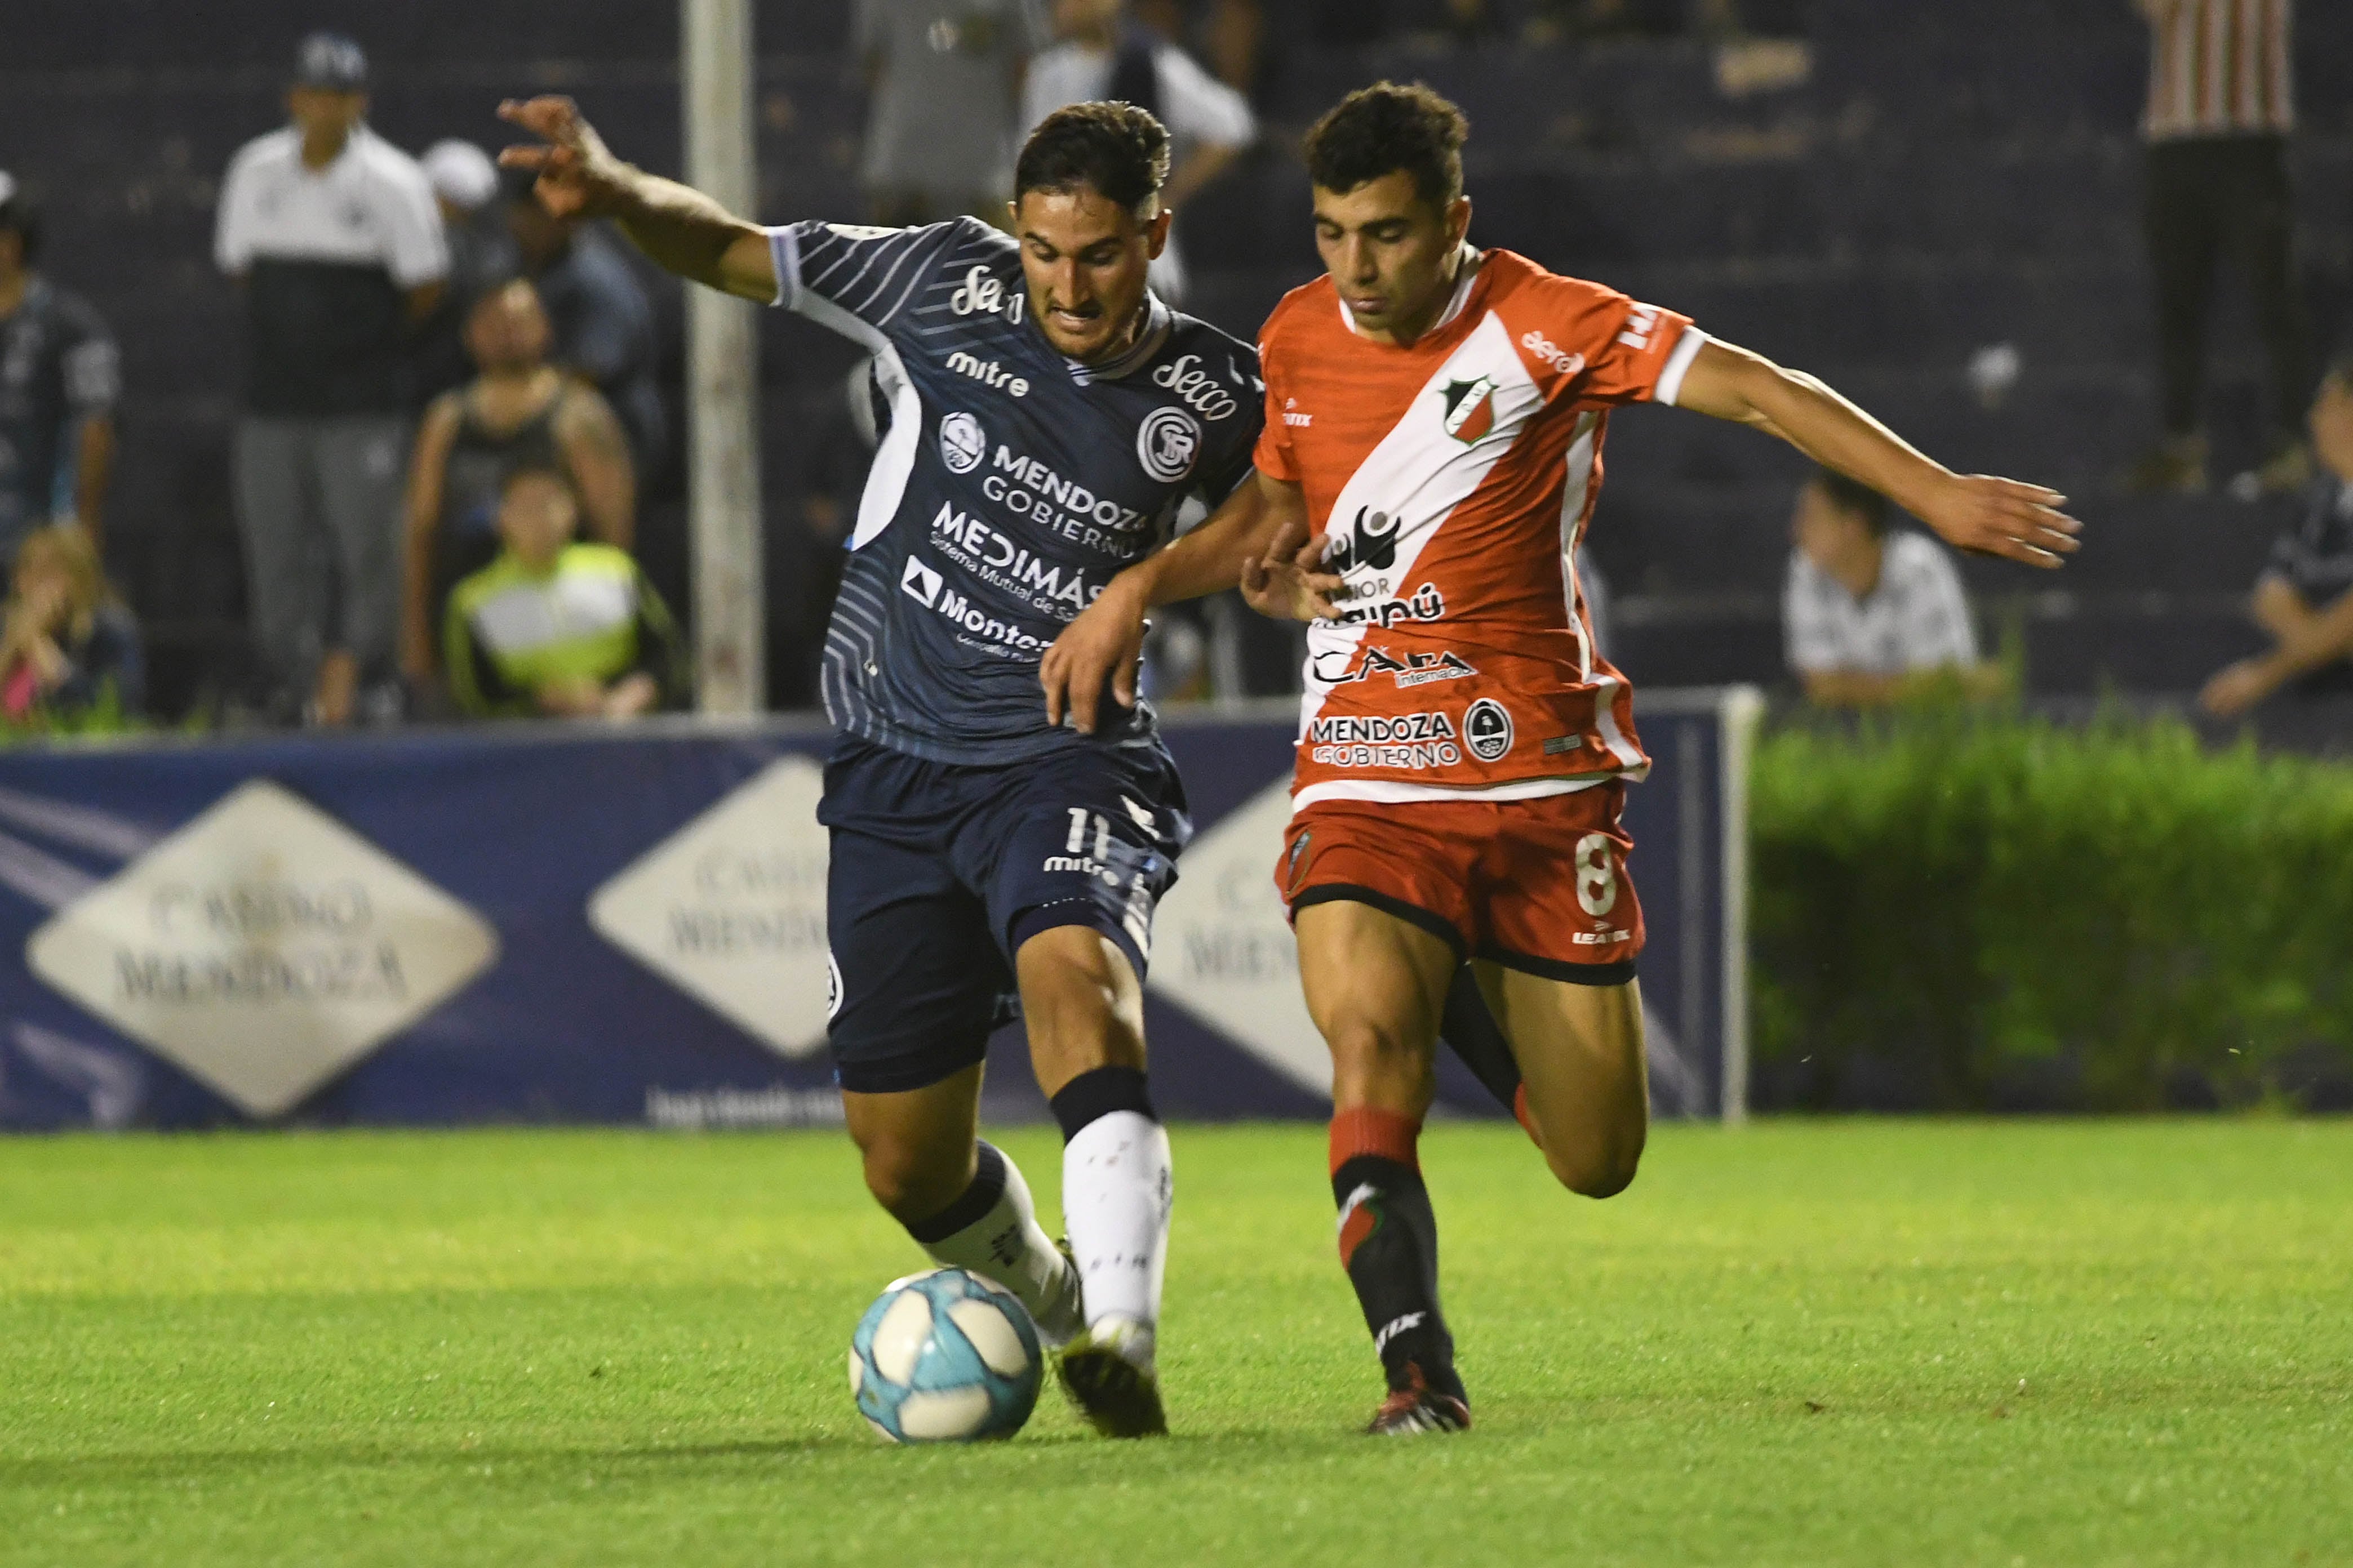
[[[33,529],[0,611],[0,719],[68,717],[108,693],[125,715],[146,701],[139,623],[106,583],[87,531],[71,522]]]

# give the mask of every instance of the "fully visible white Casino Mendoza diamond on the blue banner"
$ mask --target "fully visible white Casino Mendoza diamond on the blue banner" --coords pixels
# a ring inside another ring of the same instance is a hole
[[[480,914],[266,780],[26,943],[35,976],[249,1117],[292,1110],[496,954]]]

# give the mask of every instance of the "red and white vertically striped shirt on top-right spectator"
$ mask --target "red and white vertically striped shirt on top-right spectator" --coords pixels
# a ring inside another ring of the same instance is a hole
[[[2294,0],[2146,0],[2151,141],[2297,129]]]

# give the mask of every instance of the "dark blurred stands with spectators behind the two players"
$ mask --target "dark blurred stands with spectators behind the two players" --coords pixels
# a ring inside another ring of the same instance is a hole
[[[678,169],[675,7],[14,0],[0,52],[0,726],[628,717],[692,701],[680,296],[501,179],[565,89]],[[1689,416],[1614,425],[1588,571],[1638,684],[2099,691],[2353,731],[2353,9],[2313,0],[767,0],[760,216],[995,216],[1061,101],[1176,136],[1155,284],[1254,334],[1315,270],[1299,129],[1421,78],[1473,240],[2054,484],[2059,581]],[[814,701],[875,440],[762,324],[769,693]],[[1151,684],[1292,639],[1165,618]]]

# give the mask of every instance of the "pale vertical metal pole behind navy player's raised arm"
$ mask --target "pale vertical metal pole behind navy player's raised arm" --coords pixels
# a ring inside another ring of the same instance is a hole
[[[755,216],[753,0],[680,0],[687,183]],[[758,306],[687,289],[687,536],[694,564],[694,701],[746,715],[767,703],[760,597]]]

